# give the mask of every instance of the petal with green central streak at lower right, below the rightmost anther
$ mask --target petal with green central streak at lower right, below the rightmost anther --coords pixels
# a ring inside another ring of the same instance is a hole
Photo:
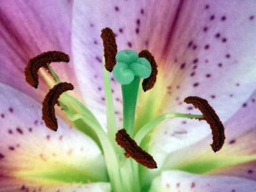
[[[159,153],[153,156],[159,160],[159,167],[163,166],[161,170],[178,169],[191,173],[234,175],[255,180],[255,97],[256,92],[248,99],[246,106],[243,105],[224,124],[226,140],[220,151],[212,152],[209,145],[212,136],[170,153],[164,151],[165,145],[159,146]]]

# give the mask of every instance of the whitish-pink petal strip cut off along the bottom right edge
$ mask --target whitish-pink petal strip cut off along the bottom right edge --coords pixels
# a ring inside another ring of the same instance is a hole
[[[180,171],[168,171],[161,173],[161,176],[154,180],[151,191],[154,189],[172,192],[242,192],[255,191],[256,182],[239,177],[194,175]]]

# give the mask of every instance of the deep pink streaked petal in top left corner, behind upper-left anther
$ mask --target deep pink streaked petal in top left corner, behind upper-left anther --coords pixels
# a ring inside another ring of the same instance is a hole
[[[70,49],[71,16],[72,1],[1,2],[0,82],[41,100],[49,87],[39,75],[40,86],[35,92],[26,83],[23,71],[30,58],[44,51],[56,50],[69,54],[71,59],[68,64],[56,64],[56,72],[61,80],[75,85]]]

